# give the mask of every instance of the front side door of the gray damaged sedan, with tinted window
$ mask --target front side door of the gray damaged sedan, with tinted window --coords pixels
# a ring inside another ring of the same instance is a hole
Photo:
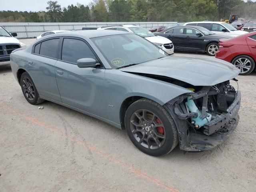
[[[87,42],[80,38],[63,38],[55,74],[64,104],[106,118],[105,68],[78,68],[80,58],[98,60]]]

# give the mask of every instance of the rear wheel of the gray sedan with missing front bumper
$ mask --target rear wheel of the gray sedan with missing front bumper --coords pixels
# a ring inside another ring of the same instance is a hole
[[[20,77],[20,86],[24,97],[30,104],[37,105],[44,102],[44,100],[39,97],[36,86],[28,72],[22,73]]]

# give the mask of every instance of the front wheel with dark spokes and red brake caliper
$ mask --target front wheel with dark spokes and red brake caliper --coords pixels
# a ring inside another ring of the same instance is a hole
[[[178,144],[174,120],[163,106],[150,99],[132,103],[124,121],[132,143],[148,155],[166,155]]]

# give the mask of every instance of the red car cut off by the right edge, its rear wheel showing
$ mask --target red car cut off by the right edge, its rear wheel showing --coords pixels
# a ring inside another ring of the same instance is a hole
[[[250,74],[256,69],[256,32],[231,39],[220,39],[215,57],[239,68],[240,75]]]

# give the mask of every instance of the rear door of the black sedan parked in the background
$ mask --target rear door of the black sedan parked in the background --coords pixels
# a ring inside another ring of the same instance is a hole
[[[172,41],[175,49],[180,49],[184,47],[184,32],[184,27],[172,28],[165,32],[166,38]]]

